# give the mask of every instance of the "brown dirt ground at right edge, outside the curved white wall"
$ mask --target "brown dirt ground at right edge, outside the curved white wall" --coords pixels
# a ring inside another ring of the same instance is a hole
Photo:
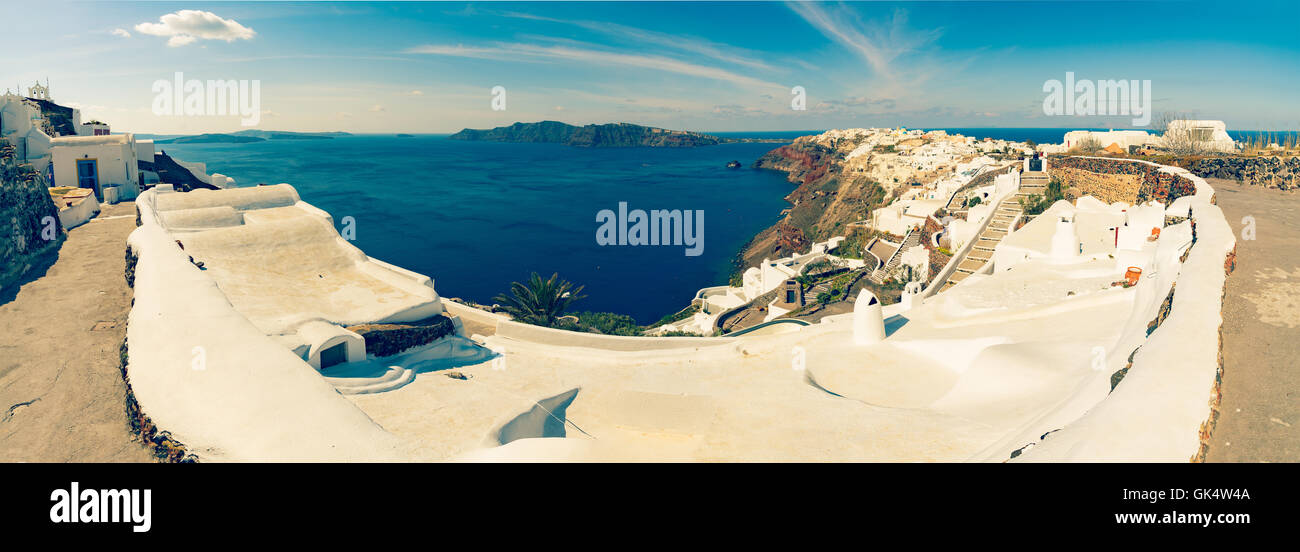
[[[1238,232],[1212,462],[1300,461],[1300,194],[1209,179]],[[1254,239],[1247,226],[1253,217]],[[1245,234],[1243,235],[1243,232]]]

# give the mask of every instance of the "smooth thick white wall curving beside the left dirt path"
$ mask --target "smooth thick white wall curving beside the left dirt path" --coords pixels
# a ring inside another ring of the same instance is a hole
[[[140,409],[200,460],[404,460],[396,439],[302,358],[264,335],[162,230],[155,191],[142,226],[127,375]]]

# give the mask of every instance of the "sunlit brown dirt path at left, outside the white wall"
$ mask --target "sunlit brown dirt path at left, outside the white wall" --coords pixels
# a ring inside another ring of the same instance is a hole
[[[0,294],[0,461],[147,462],[126,425],[118,347],[133,203],[68,232],[48,268]]]

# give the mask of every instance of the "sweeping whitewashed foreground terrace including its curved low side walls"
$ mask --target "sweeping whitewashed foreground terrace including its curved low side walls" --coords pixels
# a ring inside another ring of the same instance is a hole
[[[455,307],[494,325],[474,336],[494,358],[348,397],[254,325],[273,313],[246,317],[242,299],[226,299],[224,286],[240,277],[199,270],[174,244],[187,239],[217,260],[218,243],[260,236],[204,243],[147,222],[131,242],[140,260],[130,377],[146,413],[204,460],[1186,461],[1210,414],[1235,242],[1213,190],[1184,177],[1197,194],[1167,214],[1195,217],[1195,244],[1190,221],[1160,217],[1158,238],[1108,253],[1089,236],[1114,217],[1075,216],[1070,230],[1088,242],[1080,255],[1056,245],[1070,213],[1053,212],[1011,243],[1020,255],[1009,269],[888,320],[863,296],[853,314],[777,335],[606,336]],[[150,201],[138,201],[146,217]],[[282,222],[243,210],[248,234]],[[1130,221],[1126,232],[1150,235],[1145,217]],[[1031,229],[1044,225],[1052,231]],[[1113,286],[1127,266],[1143,269],[1138,284]],[[1149,331],[1162,305],[1171,310]],[[207,370],[190,366],[199,343]]]

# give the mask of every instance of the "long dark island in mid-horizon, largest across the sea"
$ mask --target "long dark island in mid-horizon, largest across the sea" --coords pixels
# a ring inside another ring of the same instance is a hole
[[[511,126],[498,126],[490,130],[464,129],[452,134],[451,139],[551,143],[581,148],[692,148],[740,142],[685,130],[656,129],[627,122],[575,126],[559,121],[516,122]]]

